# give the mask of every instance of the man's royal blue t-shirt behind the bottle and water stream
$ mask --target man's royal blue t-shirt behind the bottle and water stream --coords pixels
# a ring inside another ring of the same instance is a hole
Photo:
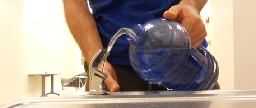
[[[122,27],[130,28],[134,24],[157,18],[181,0],[89,0],[93,17],[97,23],[103,47],[107,48],[112,36]],[[108,56],[112,64],[130,65],[129,42],[125,36],[116,40]],[[207,42],[202,43],[207,47]]]

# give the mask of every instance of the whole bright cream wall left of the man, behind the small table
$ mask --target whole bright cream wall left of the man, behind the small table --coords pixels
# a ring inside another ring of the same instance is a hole
[[[77,74],[78,47],[62,0],[0,0],[0,14],[0,105],[41,92],[41,76],[29,73],[60,72],[54,76],[57,90],[61,78]]]

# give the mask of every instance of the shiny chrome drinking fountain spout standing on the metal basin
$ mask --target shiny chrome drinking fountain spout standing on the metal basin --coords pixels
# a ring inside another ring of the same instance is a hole
[[[107,78],[107,75],[103,73],[103,69],[108,55],[109,53],[107,53],[107,50],[102,48],[94,55],[90,62],[90,95],[102,95],[106,93],[104,80]]]

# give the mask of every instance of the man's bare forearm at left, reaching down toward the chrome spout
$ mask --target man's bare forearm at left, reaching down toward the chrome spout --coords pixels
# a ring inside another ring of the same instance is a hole
[[[63,0],[66,22],[88,63],[103,48],[98,29],[86,0]]]

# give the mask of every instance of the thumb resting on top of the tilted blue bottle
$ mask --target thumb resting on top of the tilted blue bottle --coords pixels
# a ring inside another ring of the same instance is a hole
[[[180,11],[181,8],[178,8],[178,6],[172,6],[169,10],[164,12],[163,17],[165,19],[175,20],[178,17]]]

